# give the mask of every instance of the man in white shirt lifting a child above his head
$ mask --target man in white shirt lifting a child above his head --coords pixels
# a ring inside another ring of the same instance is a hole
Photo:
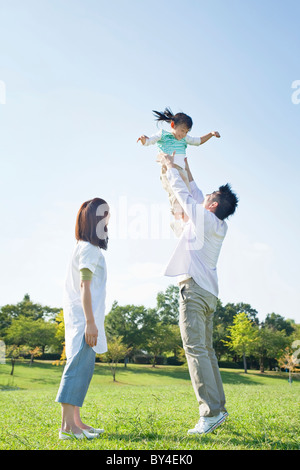
[[[218,297],[217,261],[227,232],[225,219],[235,212],[237,196],[230,185],[203,196],[186,162],[190,191],[164,154],[167,178],[188,222],[165,270],[179,276],[179,326],[200,419],[188,434],[216,429],[228,415],[217,358],[213,349],[213,315]]]

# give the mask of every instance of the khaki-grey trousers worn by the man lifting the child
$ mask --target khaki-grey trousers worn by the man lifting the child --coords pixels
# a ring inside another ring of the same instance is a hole
[[[192,278],[179,284],[179,326],[200,416],[224,411],[225,394],[213,349],[213,315],[217,297]]]

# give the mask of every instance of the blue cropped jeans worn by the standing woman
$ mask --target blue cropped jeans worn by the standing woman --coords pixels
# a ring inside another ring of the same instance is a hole
[[[83,336],[79,351],[67,360],[55,401],[83,405],[95,368],[95,355]]]

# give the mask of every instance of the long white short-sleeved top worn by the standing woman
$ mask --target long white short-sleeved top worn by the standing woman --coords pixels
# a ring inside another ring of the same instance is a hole
[[[70,260],[64,290],[65,348],[67,359],[79,351],[85,331],[85,315],[80,294],[80,270],[88,268],[93,273],[91,281],[92,309],[98,329],[94,351],[107,351],[104,331],[106,263],[102,250],[89,242],[78,241]]]

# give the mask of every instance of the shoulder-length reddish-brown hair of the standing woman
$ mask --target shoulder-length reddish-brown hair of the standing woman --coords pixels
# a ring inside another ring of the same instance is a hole
[[[108,244],[106,217],[108,213],[109,207],[104,199],[96,197],[84,202],[76,218],[76,240],[90,242],[92,245],[106,250]]]

